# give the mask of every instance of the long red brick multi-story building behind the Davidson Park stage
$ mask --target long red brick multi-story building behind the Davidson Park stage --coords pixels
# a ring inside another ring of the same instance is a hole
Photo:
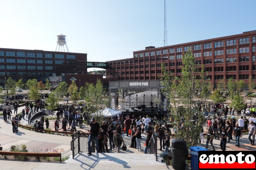
[[[173,76],[181,75],[182,56],[191,49],[196,64],[204,64],[213,85],[222,78],[244,80],[256,77],[256,31],[166,47],[146,47],[133,58],[109,61],[107,77],[119,80],[158,80],[161,63]]]

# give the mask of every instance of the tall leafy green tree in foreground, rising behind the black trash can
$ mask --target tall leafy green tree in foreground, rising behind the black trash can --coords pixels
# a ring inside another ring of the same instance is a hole
[[[204,88],[201,94],[203,96],[199,96],[201,101],[204,104],[207,95],[209,95],[208,90],[210,89],[210,84],[207,85],[207,80],[204,73],[204,69],[199,70],[199,65],[195,65],[195,60],[193,54],[190,50],[184,53],[184,57],[182,57],[182,71],[181,77],[173,77],[171,72],[168,72],[162,63],[163,70],[163,78],[161,78],[162,85],[164,88],[162,89],[162,93],[166,96],[167,100],[172,103],[167,106],[167,110],[171,111],[174,117],[174,125],[178,127],[177,138],[183,139],[187,142],[187,146],[190,147],[192,145],[196,145],[197,141],[199,141],[199,134],[201,133],[202,126],[205,123],[204,115],[202,114],[202,110],[199,107],[193,108],[195,106],[194,103],[194,89],[195,87],[199,87],[200,84]],[[201,66],[203,68],[203,66]],[[196,77],[197,76],[197,77]],[[201,81],[196,81],[196,78]],[[177,84],[175,83],[177,82]],[[178,100],[176,100],[178,98]],[[182,110],[182,111],[181,111]],[[200,114],[198,115],[198,126],[194,126],[193,117],[194,114],[198,111]],[[184,123],[184,128],[180,128],[180,123]]]

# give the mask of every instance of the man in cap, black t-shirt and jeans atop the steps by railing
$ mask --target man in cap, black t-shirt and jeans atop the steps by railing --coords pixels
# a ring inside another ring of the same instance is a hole
[[[95,118],[91,119],[90,130],[89,130],[89,138],[88,138],[88,155],[92,154],[91,142],[92,138],[96,144],[96,151],[99,153],[99,143],[98,143],[98,135],[101,132],[99,123],[96,122]]]

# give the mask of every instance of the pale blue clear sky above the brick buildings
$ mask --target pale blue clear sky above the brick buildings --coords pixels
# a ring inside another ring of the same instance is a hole
[[[166,1],[168,45],[256,30],[255,0]],[[55,51],[62,33],[69,52],[106,62],[164,46],[164,0],[1,0],[0,16],[0,48]]]

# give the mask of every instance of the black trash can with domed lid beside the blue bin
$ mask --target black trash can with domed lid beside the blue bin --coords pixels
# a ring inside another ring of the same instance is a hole
[[[187,148],[186,141],[182,139],[172,140],[170,155],[172,157],[173,169],[175,170],[186,169],[186,159],[188,157],[188,148]]]

